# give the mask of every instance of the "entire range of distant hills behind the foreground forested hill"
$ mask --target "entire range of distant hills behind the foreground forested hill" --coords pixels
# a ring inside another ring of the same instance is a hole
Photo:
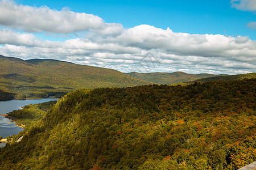
[[[216,80],[255,78],[256,74],[214,75],[174,73],[122,73],[56,59],[28,59],[0,55],[1,100],[63,96],[81,88],[133,87],[144,84],[191,84]]]

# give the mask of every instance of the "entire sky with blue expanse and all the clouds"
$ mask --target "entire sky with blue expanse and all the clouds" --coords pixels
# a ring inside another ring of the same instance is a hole
[[[0,55],[124,73],[256,72],[256,0],[2,0]]]

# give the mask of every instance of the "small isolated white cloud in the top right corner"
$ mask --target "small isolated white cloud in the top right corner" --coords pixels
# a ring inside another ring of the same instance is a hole
[[[232,0],[232,6],[242,11],[256,11],[255,0]]]

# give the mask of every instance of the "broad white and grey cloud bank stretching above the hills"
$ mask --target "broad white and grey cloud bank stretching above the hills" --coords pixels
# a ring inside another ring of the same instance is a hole
[[[14,17],[6,20],[7,16]],[[0,24],[3,56],[54,58],[122,72],[240,74],[256,71],[256,42],[249,37],[189,34],[152,25],[125,29],[121,24],[105,23],[92,14],[23,6],[13,1],[0,1]],[[83,36],[65,41],[42,40],[34,34],[67,35],[79,31],[84,32]]]

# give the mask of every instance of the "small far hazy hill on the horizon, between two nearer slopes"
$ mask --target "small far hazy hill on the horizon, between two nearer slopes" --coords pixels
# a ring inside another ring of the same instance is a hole
[[[189,82],[201,78],[209,78],[213,76],[220,76],[214,74],[188,74],[184,72],[174,72],[174,73],[137,73],[131,72],[126,73],[128,75],[134,76],[136,78],[146,80],[148,82],[154,82],[157,84],[174,84],[174,83],[181,83],[181,82]],[[222,75],[224,76],[224,75]]]

